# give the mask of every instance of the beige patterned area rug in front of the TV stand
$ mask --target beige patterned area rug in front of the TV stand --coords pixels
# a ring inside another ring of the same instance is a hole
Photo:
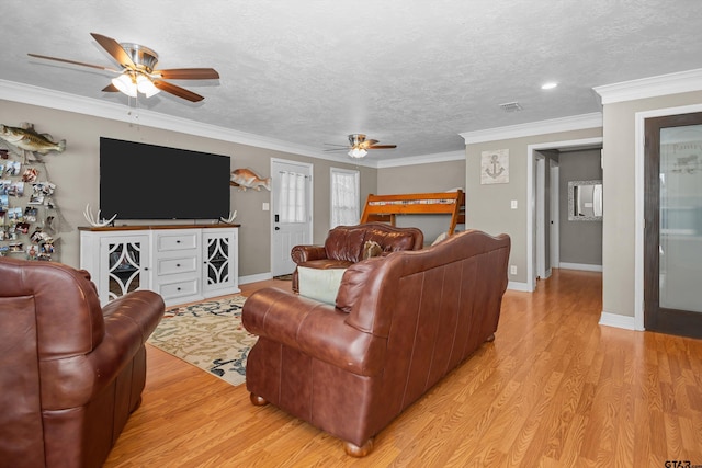
[[[231,385],[241,385],[249,350],[257,340],[241,326],[245,300],[237,295],[167,309],[147,343]]]

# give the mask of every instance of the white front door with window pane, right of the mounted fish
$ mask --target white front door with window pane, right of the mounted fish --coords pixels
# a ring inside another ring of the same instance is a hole
[[[292,248],[312,243],[312,168],[303,162],[271,160],[273,276],[292,273]]]

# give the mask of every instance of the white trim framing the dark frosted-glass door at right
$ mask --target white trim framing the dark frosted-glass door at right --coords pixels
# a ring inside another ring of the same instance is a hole
[[[637,330],[644,330],[644,194],[645,194],[645,121],[666,115],[702,112],[702,104],[656,109],[634,114],[634,321]]]

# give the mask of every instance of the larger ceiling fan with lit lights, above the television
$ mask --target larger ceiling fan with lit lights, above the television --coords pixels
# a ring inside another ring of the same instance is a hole
[[[106,85],[102,91],[122,91],[132,98],[136,98],[137,92],[150,98],[159,91],[166,91],[178,98],[182,98],[191,102],[199,102],[204,99],[200,94],[173,83],[169,83],[165,80],[214,80],[219,78],[219,73],[217,73],[213,68],[173,68],[158,70],[156,69],[156,64],[158,64],[158,54],[150,48],[144,47],[139,44],[121,44],[112,37],[97,33],[90,33],[90,35],[117,61],[117,64],[120,64],[122,67],[121,70],[103,67],[101,65],[83,64],[81,61],[48,57],[38,54],[27,55],[30,57],[63,61],[66,64],[118,73],[117,77],[112,79],[112,83]]]

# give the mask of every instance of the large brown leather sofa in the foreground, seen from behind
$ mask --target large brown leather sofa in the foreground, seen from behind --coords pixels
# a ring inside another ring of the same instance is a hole
[[[244,305],[259,335],[246,385],[364,456],[373,437],[495,338],[510,238],[469,230],[437,246],[358,262],[336,306],[278,288]]]

